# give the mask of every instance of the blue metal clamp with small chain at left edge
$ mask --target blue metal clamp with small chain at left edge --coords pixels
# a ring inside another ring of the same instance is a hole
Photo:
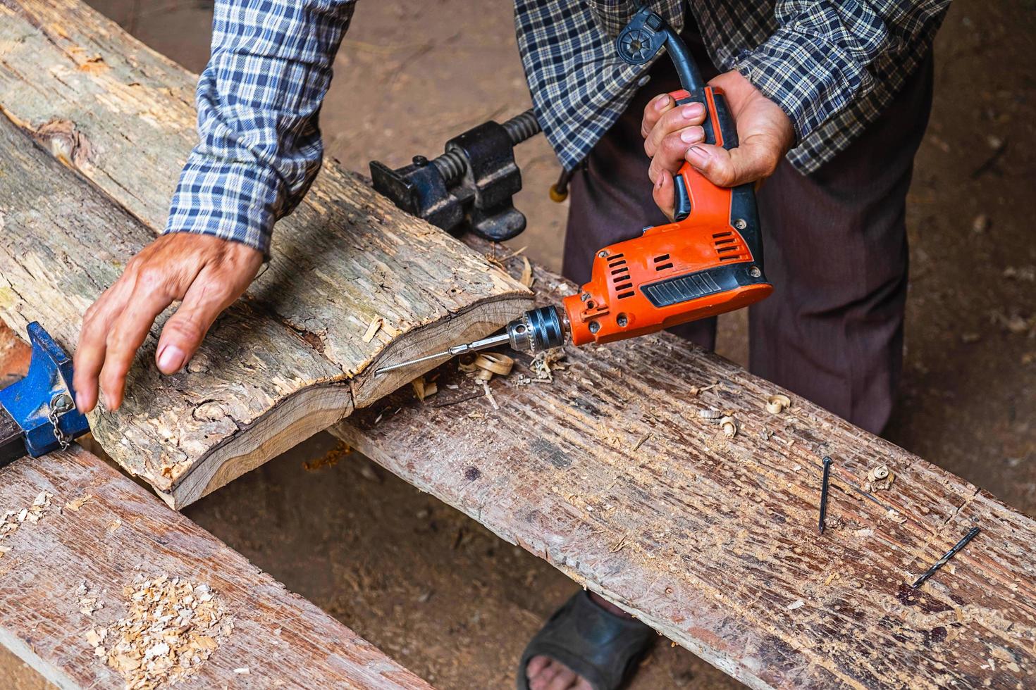
[[[37,322],[28,330],[29,372],[0,390],[0,466],[67,448],[90,430],[76,409],[71,358]]]

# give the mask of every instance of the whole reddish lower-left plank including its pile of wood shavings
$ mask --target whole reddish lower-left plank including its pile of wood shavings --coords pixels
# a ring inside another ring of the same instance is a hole
[[[0,469],[7,507],[0,644],[58,687],[429,688],[79,446]]]

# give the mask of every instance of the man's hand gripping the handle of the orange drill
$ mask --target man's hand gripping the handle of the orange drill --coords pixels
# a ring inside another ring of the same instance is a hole
[[[672,176],[685,161],[713,184],[735,187],[770,177],[795,142],[795,130],[784,111],[737,71],[720,74],[709,85],[722,89],[726,96],[738,127],[736,148],[703,144],[701,127],[688,126],[699,124],[700,117],[696,122],[663,117],[675,108],[669,96],[660,96],[644,109],[641,133],[644,151],[652,157],[649,176],[655,183],[655,203],[670,218],[675,193]]]

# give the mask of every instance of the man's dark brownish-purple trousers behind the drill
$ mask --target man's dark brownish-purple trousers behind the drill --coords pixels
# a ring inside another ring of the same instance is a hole
[[[696,29],[684,32],[706,79],[717,73]],[[664,56],[572,180],[562,272],[583,283],[594,252],[667,222],[652,200],[640,120],[680,88]],[[803,175],[786,160],[758,189],[774,294],[749,308],[749,368],[875,433],[902,368],[906,191],[931,107],[931,59],[847,149]],[[673,329],[710,350],[715,319]]]

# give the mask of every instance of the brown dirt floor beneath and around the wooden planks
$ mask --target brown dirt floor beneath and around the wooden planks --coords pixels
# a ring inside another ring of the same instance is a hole
[[[194,70],[211,3],[95,0]],[[361,2],[323,109],[346,167],[434,155],[450,137],[528,107],[508,2]],[[1036,515],[1036,42],[1034,0],[954,6],[911,191],[906,364],[887,436]],[[541,139],[523,145],[517,200],[536,261],[556,268],[566,209]],[[720,351],[747,356],[743,317]],[[232,547],[442,688],[513,687],[541,621],[574,590],[543,561],[320,434],[185,512]],[[31,679],[23,688],[35,688]],[[634,690],[732,688],[660,640]]]

